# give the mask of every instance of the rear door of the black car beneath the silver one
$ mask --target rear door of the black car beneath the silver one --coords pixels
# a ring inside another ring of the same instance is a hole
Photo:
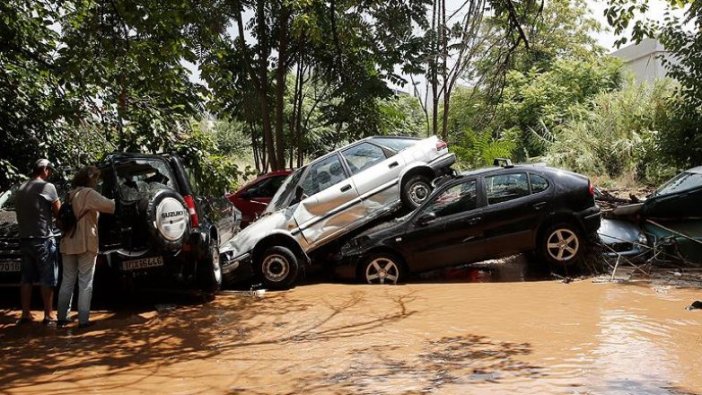
[[[530,186],[530,177],[534,192]],[[533,248],[535,232],[551,208],[552,186],[526,171],[501,172],[483,178],[485,251],[496,257]]]

